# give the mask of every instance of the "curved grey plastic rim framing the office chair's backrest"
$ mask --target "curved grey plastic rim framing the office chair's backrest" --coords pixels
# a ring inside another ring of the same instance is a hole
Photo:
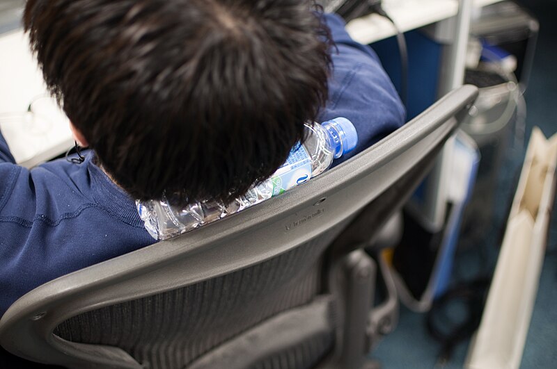
[[[442,145],[476,95],[471,85],[450,92],[351,160],[262,205],[39,286],[1,318],[1,345],[43,363],[141,368],[118,347],[71,343],[53,332],[79,313],[256,265],[348,224]]]

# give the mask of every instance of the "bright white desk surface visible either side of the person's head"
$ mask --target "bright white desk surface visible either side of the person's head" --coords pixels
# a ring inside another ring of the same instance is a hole
[[[500,0],[473,0],[475,7]],[[453,17],[458,0],[384,0],[384,9],[401,31],[409,31],[441,19]],[[347,24],[354,40],[368,44],[395,35],[389,21],[368,15]],[[33,167],[72,147],[68,118],[55,108],[54,101],[41,99],[41,119],[29,122],[27,107],[34,98],[45,94],[46,87],[29,42],[22,30],[0,35],[0,127],[17,163]],[[42,116],[48,115],[47,119]],[[45,126],[46,124],[46,126]]]

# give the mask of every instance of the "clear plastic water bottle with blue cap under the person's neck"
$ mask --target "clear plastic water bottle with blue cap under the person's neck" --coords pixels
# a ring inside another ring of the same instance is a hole
[[[237,213],[298,186],[327,170],[333,160],[356,147],[358,136],[343,117],[305,125],[306,140],[292,148],[286,162],[267,180],[253,186],[230,204],[206,200],[177,207],[166,198],[136,201],[137,211],[149,234],[157,240],[178,236],[226,215]]]

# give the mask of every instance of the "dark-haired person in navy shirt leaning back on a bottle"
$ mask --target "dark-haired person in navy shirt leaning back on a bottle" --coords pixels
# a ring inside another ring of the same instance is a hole
[[[15,164],[0,133],[0,315],[63,274],[155,243],[135,199],[227,202],[304,122],[356,149],[405,121],[377,56],[308,0],[29,0],[24,26],[83,163]]]

